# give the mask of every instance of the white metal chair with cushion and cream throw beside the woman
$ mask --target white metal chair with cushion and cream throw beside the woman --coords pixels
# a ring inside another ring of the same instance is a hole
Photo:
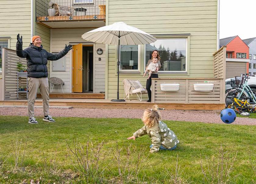
[[[137,100],[142,101],[142,95],[147,94],[146,88],[142,86],[140,83],[140,80],[129,80],[129,79],[124,79],[123,80],[124,84],[124,99],[128,98],[130,100],[130,94],[131,96],[133,94],[137,95]],[[129,90],[129,91],[128,91]]]

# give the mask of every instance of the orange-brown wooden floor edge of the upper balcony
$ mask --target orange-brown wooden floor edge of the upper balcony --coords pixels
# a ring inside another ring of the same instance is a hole
[[[37,17],[36,21],[41,21],[41,22],[47,22],[47,21],[63,21],[63,20],[68,20],[68,21],[77,21],[77,20],[105,20],[106,15],[82,15],[82,16],[72,16],[73,19],[69,20],[70,16],[47,16],[48,20],[45,20],[46,16],[42,17]]]

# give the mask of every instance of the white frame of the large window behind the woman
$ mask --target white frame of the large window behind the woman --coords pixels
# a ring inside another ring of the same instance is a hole
[[[168,73],[187,73],[188,71],[188,67],[187,67],[187,59],[188,59],[188,49],[187,49],[187,45],[188,45],[188,37],[157,37],[157,39],[159,40],[163,40],[163,39],[166,39],[166,40],[171,40],[171,39],[186,39],[186,70],[185,71],[158,71],[158,73],[162,73],[162,74],[168,74]],[[160,56],[161,57],[161,56]],[[146,70],[146,45],[144,45],[144,72]],[[163,67],[163,66],[162,66]],[[183,66],[182,66],[183,68]]]

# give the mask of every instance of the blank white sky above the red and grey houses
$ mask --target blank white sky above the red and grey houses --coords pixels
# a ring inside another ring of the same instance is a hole
[[[256,37],[256,0],[220,0],[219,38]]]

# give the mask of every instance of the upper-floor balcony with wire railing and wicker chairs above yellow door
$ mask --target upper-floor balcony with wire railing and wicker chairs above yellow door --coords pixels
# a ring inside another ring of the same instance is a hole
[[[105,19],[105,0],[36,0],[36,22],[50,28],[101,27]]]

